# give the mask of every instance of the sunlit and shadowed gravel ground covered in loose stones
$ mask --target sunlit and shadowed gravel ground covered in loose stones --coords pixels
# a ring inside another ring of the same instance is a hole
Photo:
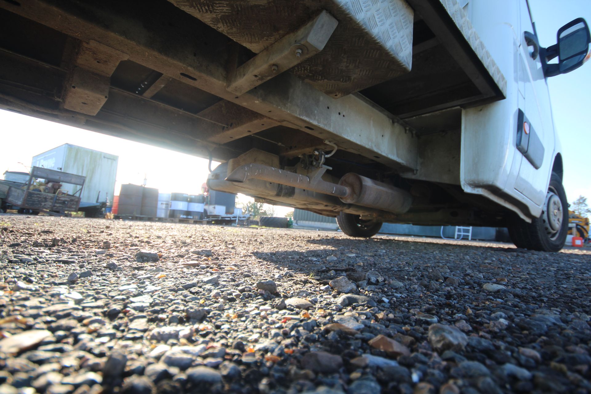
[[[591,392],[591,252],[0,215],[0,394]]]

